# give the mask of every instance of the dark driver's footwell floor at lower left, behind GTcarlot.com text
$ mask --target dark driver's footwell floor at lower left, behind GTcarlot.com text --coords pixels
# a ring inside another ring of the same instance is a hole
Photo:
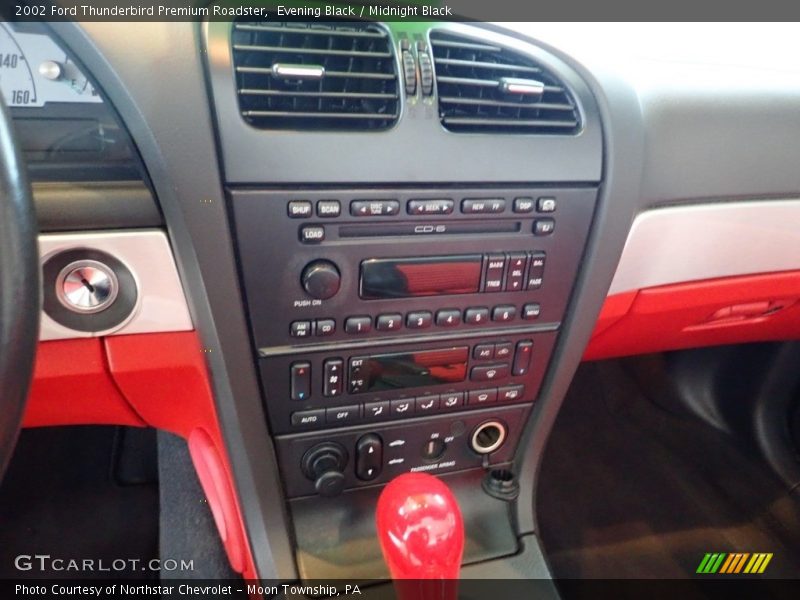
[[[155,457],[154,431],[23,431],[0,486],[0,579],[157,579],[142,571],[158,557]],[[49,558],[26,558],[34,555]],[[83,568],[83,560],[94,562]]]

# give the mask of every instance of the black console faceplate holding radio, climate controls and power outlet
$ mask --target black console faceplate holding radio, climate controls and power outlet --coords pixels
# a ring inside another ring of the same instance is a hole
[[[231,192],[289,497],[511,460],[595,196],[588,186]]]

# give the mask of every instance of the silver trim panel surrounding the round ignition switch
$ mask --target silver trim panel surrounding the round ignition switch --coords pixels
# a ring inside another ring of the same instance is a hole
[[[87,332],[64,327],[42,312],[39,333],[41,341],[194,329],[172,250],[163,231],[86,232],[39,236],[42,264],[54,254],[79,248],[100,250],[110,254],[130,269],[139,290],[133,314],[114,329]]]

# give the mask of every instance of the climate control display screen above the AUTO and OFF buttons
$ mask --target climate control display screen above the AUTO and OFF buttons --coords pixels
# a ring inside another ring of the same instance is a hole
[[[468,358],[467,346],[351,358],[351,391],[379,392],[459,383],[467,377]]]

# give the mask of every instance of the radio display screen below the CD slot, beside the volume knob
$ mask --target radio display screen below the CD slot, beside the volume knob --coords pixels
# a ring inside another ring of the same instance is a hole
[[[366,300],[473,294],[481,284],[480,254],[371,258],[361,262],[359,295]]]

